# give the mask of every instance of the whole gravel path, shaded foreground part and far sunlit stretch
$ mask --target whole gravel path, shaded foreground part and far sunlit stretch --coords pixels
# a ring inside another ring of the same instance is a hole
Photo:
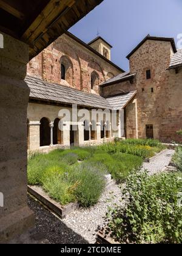
[[[174,150],[163,152],[152,162],[144,163],[143,169],[148,169],[150,175],[164,171],[174,152]],[[50,213],[31,197],[29,197],[29,206],[35,212],[36,232],[41,233],[50,243],[95,243],[98,229],[104,226],[107,208],[114,204],[122,204],[120,199],[121,189],[114,185],[112,191],[103,193],[94,207],[87,210],[78,209],[63,220]]]

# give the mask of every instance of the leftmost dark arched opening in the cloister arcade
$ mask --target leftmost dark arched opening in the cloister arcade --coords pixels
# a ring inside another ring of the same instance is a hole
[[[50,126],[49,119],[42,118],[40,122],[40,146],[50,145]]]

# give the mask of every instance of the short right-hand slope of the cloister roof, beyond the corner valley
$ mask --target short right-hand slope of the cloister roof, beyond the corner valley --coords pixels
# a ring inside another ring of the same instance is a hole
[[[135,96],[135,94],[136,91],[130,91],[126,94],[107,98],[107,102],[109,102],[113,109],[121,110],[126,107],[127,103]]]

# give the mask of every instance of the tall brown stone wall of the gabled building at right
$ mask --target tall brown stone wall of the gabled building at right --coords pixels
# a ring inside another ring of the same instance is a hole
[[[182,71],[175,74],[174,70],[167,70],[172,54],[170,42],[147,40],[130,57],[130,72],[136,73],[141,138],[146,138],[146,125],[152,124],[154,138],[164,142],[182,141],[176,134],[182,127]],[[151,79],[146,79],[148,69]]]

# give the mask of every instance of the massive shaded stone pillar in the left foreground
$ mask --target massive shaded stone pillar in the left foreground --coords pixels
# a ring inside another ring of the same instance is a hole
[[[27,206],[27,105],[30,89],[24,82],[29,46],[3,34],[0,49],[0,241],[5,243],[33,227]]]

